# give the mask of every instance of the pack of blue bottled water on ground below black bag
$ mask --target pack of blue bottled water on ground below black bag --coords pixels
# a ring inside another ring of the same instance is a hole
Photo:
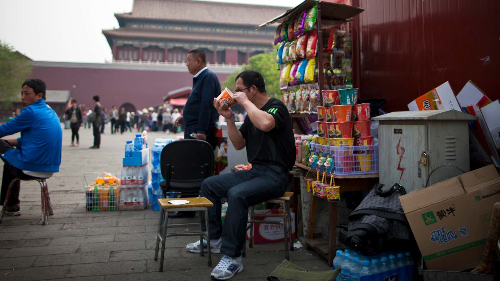
[[[384,252],[364,256],[353,249],[337,250],[333,269],[340,267],[337,281],[413,281],[410,252]]]

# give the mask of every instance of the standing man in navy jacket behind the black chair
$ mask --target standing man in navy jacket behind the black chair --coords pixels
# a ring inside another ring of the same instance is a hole
[[[217,75],[206,67],[205,52],[192,49],[187,52],[187,70],[193,75],[192,88],[184,106],[183,115],[175,120],[175,125],[184,124],[184,139],[205,140],[215,148],[213,127],[218,121],[218,112],[213,107],[213,98],[220,93]]]

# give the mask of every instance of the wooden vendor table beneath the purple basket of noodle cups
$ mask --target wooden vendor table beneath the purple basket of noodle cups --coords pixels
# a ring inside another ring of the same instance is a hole
[[[310,170],[310,167],[305,165],[295,163],[295,166],[302,168],[304,171]],[[315,171],[315,169],[312,169]],[[322,176],[322,172],[319,172]],[[326,174],[329,178],[329,173]],[[340,192],[345,191],[362,191],[370,190],[375,183],[378,182],[378,173],[374,174],[360,174],[360,175],[334,175],[335,184],[340,186]],[[307,237],[305,241],[307,246],[311,247],[318,254],[328,260],[330,266],[333,265],[333,258],[335,257],[335,251],[337,250],[337,202],[329,202],[329,239],[326,240],[323,237],[314,238],[314,212],[316,209],[317,200],[320,200],[317,196],[312,196],[309,212],[309,225],[307,227]]]

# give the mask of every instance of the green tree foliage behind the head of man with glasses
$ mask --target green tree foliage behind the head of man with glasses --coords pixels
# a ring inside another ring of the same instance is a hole
[[[262,74],[265,82],[265,89],[269,96],[279,96],[279,70],[276,66],[277,51],[263,52],[251,56],[248,59],[248,64],[243,64],[241,70],[236,70],[229,75],[222,87],[227,87],[231,91],[235,88],[235,78],[243,70],[255,70]]]

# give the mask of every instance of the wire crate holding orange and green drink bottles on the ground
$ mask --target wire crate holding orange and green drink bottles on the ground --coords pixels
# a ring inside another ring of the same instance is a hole
[[[103,176],[104,172],[84,172],[83,188],[85,188],[86,210],[118,210],[120,185],[113,183],[95,183],[95,179]],[[117,172],[109,172],[117,177]]]

